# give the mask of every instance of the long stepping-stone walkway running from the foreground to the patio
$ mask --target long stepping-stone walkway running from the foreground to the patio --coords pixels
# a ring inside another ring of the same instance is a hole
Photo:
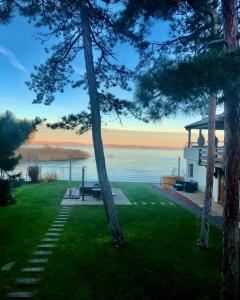
[[[71,210],[71,206],[63,206],[60,209],[45,237],[41,239],[43,243],[37,246],[39,250],[32,253],[32,258],[29,259],[27,266],[21,269],[21,277],[16,278],[13,291],[6,295],[7,298],[28,299],[34,296],[34,289],[41,279],[40,275],[44,273],[45,266],[49,260],[48,257],[50,257],[53,253],[52,250],[56,247],[56,242],[61,236]]]

